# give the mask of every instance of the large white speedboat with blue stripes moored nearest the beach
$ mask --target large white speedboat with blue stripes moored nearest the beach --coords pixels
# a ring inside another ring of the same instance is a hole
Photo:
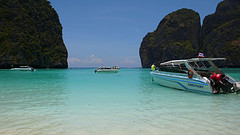
[[[158,70],[151,71],[152,80],[160,85],[199,93],[240,93],[240,83],[223,73],[213,61],[225,58],[192,58],[161,63]],[[223,85],[210,78],[221,74]]]

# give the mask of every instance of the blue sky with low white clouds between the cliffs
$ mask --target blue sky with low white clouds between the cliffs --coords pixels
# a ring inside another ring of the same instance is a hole
[[[68,66],[141,67],[139,48],[169,13],[189,8],[204,17],[222,0],[49,0],[63,26]],[[201,22],[202,23],[202,22]]]

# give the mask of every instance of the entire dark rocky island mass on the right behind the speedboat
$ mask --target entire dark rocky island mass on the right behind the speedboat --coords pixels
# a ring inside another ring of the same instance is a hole
[[[180,9],[165,16],[154,32],[141,43],[143,68],[152,63],[197,57],[227,58],[225,66],[240,67],[240,1],[220,2],[214,14],[204,18],[191,9]]]

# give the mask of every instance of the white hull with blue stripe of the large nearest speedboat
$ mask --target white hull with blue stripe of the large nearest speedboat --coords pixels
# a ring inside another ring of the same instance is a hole
[[[212,94],[212,88],[204,80],[197,77],[188,78],[187,74],[152,71],[150,73],[155,83],[179,90]]]

